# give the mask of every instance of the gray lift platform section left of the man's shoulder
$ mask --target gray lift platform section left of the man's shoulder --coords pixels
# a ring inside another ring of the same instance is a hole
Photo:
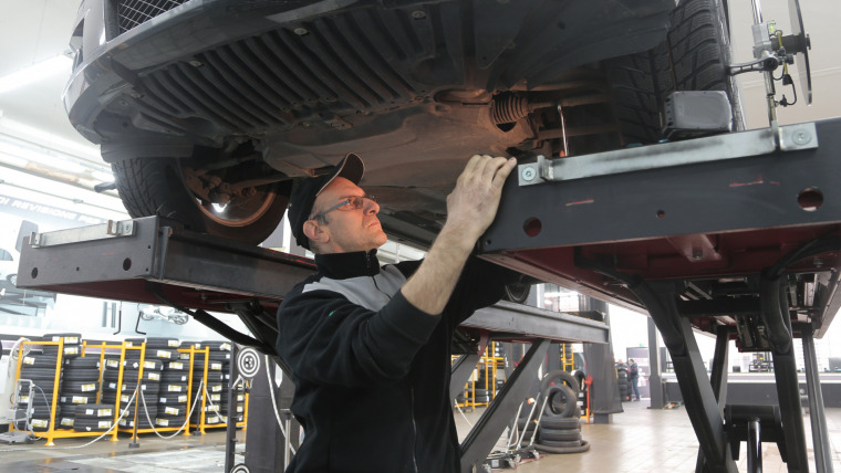
[[[133,233],[112,238],[100,238],[91,228],[35,235],[33,241],[44,244],[23,248],[18,285],[60,285],[62,292],[73,293],[74,284],[143,278],[281,298],[313,273],[308,260],[295,264],[295,259],[271,250],[227,241],[221,244],[218,239],[176,231],[154,217],[134,220],[133,229]]]

